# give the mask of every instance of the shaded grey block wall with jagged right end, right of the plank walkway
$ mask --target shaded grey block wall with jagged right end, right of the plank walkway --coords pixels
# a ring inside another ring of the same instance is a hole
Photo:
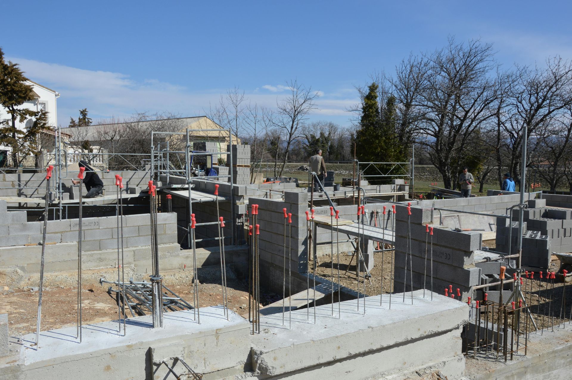
[[[426,224],[431,224],[431,210],[412,206],[408,218],[407,207],[397,206],[395,215],[395,291],[411,291],[411,263],[407,261],[407,278],[405,265],[407,247],[411,247],[412,279],[414,290],[423,289],[426,247],[430,260],[430,244],[426,245]],[[408,242],[408,225],[411,227],[411,239]],[[440,293],[442,289],[453,285],[459,288],[463,298],[469,294],[471,286],[480,285],[481,269],[474,266],[474,251],[482,245],[482,235],[477,231],[457,232],[445,227],[433,225],[433,290]],[[430,266],[428,265],[427,268]],[[404,287],[404,279],[406,285]],[[427,270],[426,287],[430,286],[430,270]]]

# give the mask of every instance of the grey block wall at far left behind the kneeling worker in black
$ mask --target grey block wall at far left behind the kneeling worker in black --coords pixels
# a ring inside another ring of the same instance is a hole
[[[70,169],[71,170],[71,169]],[[73,194],[72,179],[77,179],[77,173],[72,171],[62,172],[62,189],[64,193]],[[142,189],[147,188],[147,182],[150,178],[149,171],[97,171],[101,181],[104,183],[105,194],[116,194],[117,186],[115,185],[115,175],[119,174],[123,177],[124,189],[127,193],[129,187],[140,186]],[[0,174],[0,196],[5,197],[25,197],[25,198],[43,198],[46,196],[46,174],[45,173],[1,173]],[[52,177],[50,186],[53,188],[56,177]],[[37,189],[35,189],[37,187]],[[53,191],[53,190],[52,190]],[[85,186],[82,186],[83,194],[87,193]],[[70,195],[68,195],[70,196]],[[74,199],[70,197],[69,199]]]

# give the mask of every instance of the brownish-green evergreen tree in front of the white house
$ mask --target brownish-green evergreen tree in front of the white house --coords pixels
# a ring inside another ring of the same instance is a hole
[[[47,129],[47,112],[21,107],[36,96],[27,80],[17,63],[4,60],[0,49],[0,106],[10,115],[8,119],[0,120],[0,145],[11,148],[14,167],[30,154],[39,154],[39,133]],[[35,118],[33,124],[26,130],[18,129],[16,123],[26,122],[28,118]]]

